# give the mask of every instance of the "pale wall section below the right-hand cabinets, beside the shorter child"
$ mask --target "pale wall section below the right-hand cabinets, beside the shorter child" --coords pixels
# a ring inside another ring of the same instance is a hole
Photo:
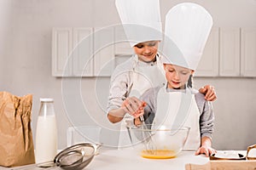
[[[215,132],[213,146],[218,150],[245,150],[255,144],[256,79],[195,78],[195,87],[212,84],[218,99],[213,102]]]

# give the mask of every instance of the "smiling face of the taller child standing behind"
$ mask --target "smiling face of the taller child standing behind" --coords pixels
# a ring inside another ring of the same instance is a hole
[[[133,49],[139,60],[151,62],[155,60],[158,45],[159,41],[141,42],[135,45]]]

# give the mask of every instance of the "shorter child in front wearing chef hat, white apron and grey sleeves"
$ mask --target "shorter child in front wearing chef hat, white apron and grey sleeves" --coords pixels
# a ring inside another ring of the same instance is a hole
[[[212,149],[212,105],[192,88],[189,80],[201,59],[211,28],[212,16],[200,5],[180,3],[173,7],[166,14],[162,51],[166,86],[149,89],[141,98],[148,104],[145,119],[153,116],[154,122],[161,126],[189,127],[184,150],[196,150],[196,155],[207,156],[216,153]],[[135,122],[140,123],[139,119]]]

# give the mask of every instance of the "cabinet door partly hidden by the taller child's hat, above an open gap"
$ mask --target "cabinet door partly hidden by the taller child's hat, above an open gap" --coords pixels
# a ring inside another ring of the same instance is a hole
[[[130,42],[127,41],[123,26],[115,26],[115,54],[116,55],[131,55],[134,54]]]

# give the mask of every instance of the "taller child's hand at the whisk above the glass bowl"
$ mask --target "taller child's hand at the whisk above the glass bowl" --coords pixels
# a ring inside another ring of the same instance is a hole
[[[121,108],[123,108],[126,113],[137,118],[139,116],[143,116],[145,106],[145,102],[137,99],[136,97],[129,97],[125,99]]]

